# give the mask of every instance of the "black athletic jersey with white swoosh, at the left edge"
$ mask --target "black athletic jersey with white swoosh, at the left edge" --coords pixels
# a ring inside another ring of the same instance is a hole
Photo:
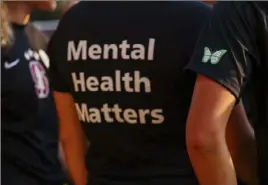
[[[62,182],[58,119],[44,65],[49,60],[32,48],[25,26],[12,26],[14,43],[1,48],[2,160],[22,173]]]

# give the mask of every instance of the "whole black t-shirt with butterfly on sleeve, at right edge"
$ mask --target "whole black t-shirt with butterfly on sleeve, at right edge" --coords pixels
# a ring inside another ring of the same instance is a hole
[[[268,184],[267,17],[267,2],[216,4],[187,66],[226,87],[238,101],[250,90],[262,185]]]

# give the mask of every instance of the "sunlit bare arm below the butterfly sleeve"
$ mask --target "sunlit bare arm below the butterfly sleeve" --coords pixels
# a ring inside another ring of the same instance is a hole
[[[235,97],[216,82],[199,75],[187,120],[187,150],[200,185],[236,185],[225,140]]]

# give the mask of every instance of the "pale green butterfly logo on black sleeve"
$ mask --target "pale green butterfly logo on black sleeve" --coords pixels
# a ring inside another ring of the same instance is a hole
[[[227,50],[221,49],[212,53],[208,47],[205,47],[202,62],[207,63],[210,61],[211,64],[217,64],[226,52]]]

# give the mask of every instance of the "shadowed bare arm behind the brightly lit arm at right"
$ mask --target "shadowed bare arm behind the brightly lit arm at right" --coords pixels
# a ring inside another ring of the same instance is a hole
[[[258,184],[254,131],[242,102],[234,108],[228,121],[226,141],[238,176],[249,185]]]

